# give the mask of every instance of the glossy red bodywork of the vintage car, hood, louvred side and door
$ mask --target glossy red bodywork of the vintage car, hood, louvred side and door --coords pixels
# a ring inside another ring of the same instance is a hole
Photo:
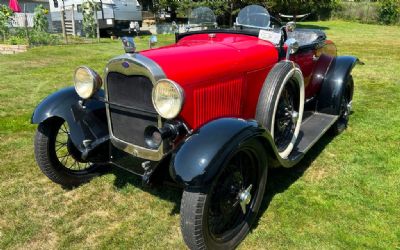
[[[279,60],[270,42],[230,33],[190,35],[141,54],[183,88],[185,103],[179,118],[193,129],[220,117],[254,118],[264,81]],[[315,50],[308,50],[291,57],[303,72],[306,97],[319,91],[315,81],[310,84],[314,56]]]

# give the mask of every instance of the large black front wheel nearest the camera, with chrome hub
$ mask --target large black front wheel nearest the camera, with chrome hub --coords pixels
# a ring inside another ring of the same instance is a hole
[[[234,164],[238,163],[238,159],[240,167]],[[243,167],[243,163],[250,162],[253,164]],[[240,171],[236,168],[240,168]],[[186,188],[180,215],[182,235],[187,246],[190,249],[235,248],[256,219],[264,196],[267,172],[263,146],[257,139],[251,139],[232,152],[207,191]],[[246,187],[249,183],[252,197],[241,203],[239,196],[249,189]],[[242,186],[239,192],[236,184]]]

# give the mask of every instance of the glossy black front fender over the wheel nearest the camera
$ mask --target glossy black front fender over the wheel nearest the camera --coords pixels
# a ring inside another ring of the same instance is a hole
[[[195,131],[173,152],[171,177],[185,186],[207,186],[232,150],[254,137],[271,141],[257,121],[236,118],[214,120]]]

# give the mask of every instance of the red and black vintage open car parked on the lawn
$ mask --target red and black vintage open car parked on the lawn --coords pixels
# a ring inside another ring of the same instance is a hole
[[[79,67],[75,88],[33,113],[35,156],[66,187],[109,165],[145,184],[173,181],[183,188],[186,244],[231,249],[256,219],[268,169],[294,166],[326,132],[346,128],[358,59],[260,6],[229,30],[207,8],[193,13],[175,44],[136,52],[123,38],[126,54],[103,78]]]

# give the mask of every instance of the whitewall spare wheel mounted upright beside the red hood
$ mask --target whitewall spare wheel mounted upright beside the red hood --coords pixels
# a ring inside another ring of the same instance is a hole
[[[282,158],[287,158],[293,150],[303,111],[304,79],[301,70],[290,61],[277,63],[262,87],[256,120],[270,131]]]

